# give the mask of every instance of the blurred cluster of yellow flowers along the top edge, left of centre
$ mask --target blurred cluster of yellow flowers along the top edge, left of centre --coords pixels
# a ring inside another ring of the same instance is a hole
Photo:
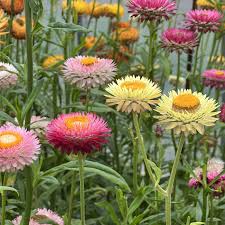
[[[68,9],[67,1],[64,0],[62,3],[63,10]],[[119,13],[119,16],[122,17],[124,15],[124,8],[122,5],[118,4],[101,4],[99,2],[86,2],[85,0],[77,0],[73,1],[72,9],[78,14],[78,15],[88,15],[93,16],[95,18],[99,17],[116,17],[117,13]]]

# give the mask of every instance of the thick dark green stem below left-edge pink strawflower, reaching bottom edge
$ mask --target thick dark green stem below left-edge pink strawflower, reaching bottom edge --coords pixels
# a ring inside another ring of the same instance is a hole
[[[31,167],[25,167],[24,172],[26,178],[26,205],[22,225],[29,225],[33,196],[33,174]]]

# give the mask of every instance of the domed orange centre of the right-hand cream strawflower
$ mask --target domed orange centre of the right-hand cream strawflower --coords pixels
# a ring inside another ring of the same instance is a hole
[[[193,110],[199,105],[199,99],[193,94],[180,94],[173,99],[173,107],[178,110]]]

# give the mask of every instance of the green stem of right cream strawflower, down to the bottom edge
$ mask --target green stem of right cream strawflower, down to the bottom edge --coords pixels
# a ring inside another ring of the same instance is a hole
[[[167,186],[167,196],[166,196],[166,208],[165,208],[165,214],[166,214],[166,225],[171,225],[171,195],[173,192],[173,186],[174,186],[174,181],[175,181],[175,177],[176,177],[176,172],[177,172],[177,168],[180,162],[180,157],[181,157],[181,152],[184,146],[184,141],[185,141],[185,136],[182,134],[180,137],[180,141],[179,141],[179,145],[177,147],[177,152],[176,152],[176,156],[175,156],[175,160],[173,163],[173,167],[172,167],[172,171],[170,174],[170,179],[169,179],[169,183]]]

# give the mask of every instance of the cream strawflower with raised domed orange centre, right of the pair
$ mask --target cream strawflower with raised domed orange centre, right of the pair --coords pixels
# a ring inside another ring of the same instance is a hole
[[[206,95],[191,90],[171,91],[163,95],[155,111],[155,116],[165,129],[173,129],[176,134],[204,134],[205,126],[213,126],[219,114],[218,104]]]

